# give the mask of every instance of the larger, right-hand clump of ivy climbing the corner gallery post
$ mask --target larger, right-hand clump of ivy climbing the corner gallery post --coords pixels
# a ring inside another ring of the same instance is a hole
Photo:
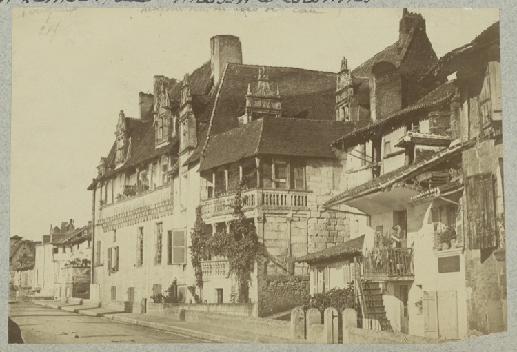
[[[259,237],[256,228],[243,212],[243,182],[235,188],[234,219],[221,233],[208,240],[208,248],[214,255],[224,255],[228,259],[230,275],[236,276],[238,300],[250,302],[250,282],[259,252]]]

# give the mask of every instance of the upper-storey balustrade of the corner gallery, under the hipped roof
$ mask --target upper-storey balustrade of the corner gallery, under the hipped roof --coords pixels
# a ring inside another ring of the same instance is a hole
[[[304,190],[243,190],[243,210],[247,211],[256,207],[305,209],[307,208],[307,195],[308,192]],[[203,217],[232,213],[234,199],[234,194],[205,199],[201,202],[201,213]]]

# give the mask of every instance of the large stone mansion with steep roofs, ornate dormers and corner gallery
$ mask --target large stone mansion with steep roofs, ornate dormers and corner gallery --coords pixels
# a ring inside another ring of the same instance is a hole
[[[216,235],[232,220],[229,205],[241,180],[243,210],[263,248],[252,302],[268,306],[261,295],[270,276],[283,277],[284,289],[292,277],[306,282],[307,264],[296,257],[343,243],[366,226],[361,214],[323,208],[353,182],[347,169],[355,159],[332,142],[436,88],[418,84],[437,58],[425,20],[407,10],[396,43],[354,70],[344,59],[337,74],[243,64],[241,41],[230,35],[210,45],[210,61],[183,80],[154,77],[152,95],[139,95],[139,118],[119,114],[113,147],[88,188],[93,283],[103,301],[149,298],[174,279],[193,301],[188,247],[195,208],[201,205],[205,232]],[[227,260],[209,253],[202,268],[203,300],[230,302],[236,283]]]

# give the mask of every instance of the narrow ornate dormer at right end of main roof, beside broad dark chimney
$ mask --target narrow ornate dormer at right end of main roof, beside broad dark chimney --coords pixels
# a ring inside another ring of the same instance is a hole
[[[354,104],[354,82],[352,72],[345,57],[341,60],[341,68],[336,81],[336,119],[338,121],[352,121]]]

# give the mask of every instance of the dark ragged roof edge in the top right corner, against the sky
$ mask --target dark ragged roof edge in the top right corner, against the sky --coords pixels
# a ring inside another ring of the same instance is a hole
[[[434,77],[447,77],[457,69],[459,59],[465,55],[471,55],[477,50],[482,50],[500,41],[499,21],[489,26],[480,35],[468,44],[460,46],[440,57],[438,62],[427,72],[421,80],[427,81]]]

